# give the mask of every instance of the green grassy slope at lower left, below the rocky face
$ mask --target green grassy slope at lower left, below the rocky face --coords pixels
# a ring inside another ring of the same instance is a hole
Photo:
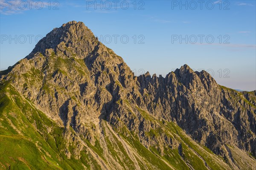
[[[67,159],[64,128],[35,109],[8,83],[0,84],[0,169],[83,169],[90,155]],[[48,133],[47,127],[51,128]],[[84,165],[82,165],[82,163]]]

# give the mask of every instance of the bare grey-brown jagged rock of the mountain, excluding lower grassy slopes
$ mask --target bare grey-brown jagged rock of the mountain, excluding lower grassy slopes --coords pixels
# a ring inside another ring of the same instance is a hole
[[[137,140],[148,150],[157,150],[159,156],[177,150],[180,159],[192,168],[192,162],[184,156],[192,146],[184,145],[185,139],[179,137],[183,133],[172,129],[170,123],[181,127],[185,136],[191,136],[187,140],[223,157],[229,164],[224,169],[240,166],[230,158],[228,146],[239,148],[244,156],[256,153],[256,91],[238,92],[222,87],[207,72],[194,72],[188,65],[166,77],[151,77],[148,72],[136,77],[123,59],[99,42],[81,22],[54,28],[26,58],[1,72],[0,80],[9,82],[49,119],[66,128],[63,140],[73,140],[78,146],[75,151],[70,150],[67,142],[64,152],[68,158],[71,153],[76,159],[81,158],[80,152],[87,146],[84,140],[92,146],[100,141],[105,148],[103,153],[113,156],[106,149],[107,132],[112,136],[108,140],[116,145]],[[125,150],[133,153],[130,147]],[[88,148],[87,152],[96,154],[89,145]],[[191,154],[203,160],[209,169],[206,159],[193,150]],[[105,160],[97,162],[105,162],[101,167],[108,169],[115,156],[106,159],[104,154]],[[135,157],[134,168],[140,169]]]

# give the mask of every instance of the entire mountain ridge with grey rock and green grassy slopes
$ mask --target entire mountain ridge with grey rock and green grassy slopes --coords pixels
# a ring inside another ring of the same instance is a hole
[[[255,170],[256,91],[188,65],[139,77],[84,26],[0,72],[0,168]]]

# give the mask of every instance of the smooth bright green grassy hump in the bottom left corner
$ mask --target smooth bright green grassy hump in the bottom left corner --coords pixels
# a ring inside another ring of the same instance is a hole
[[[22,166],[25,169],[30,168],[37,170],[62,169],[56,163],[52,163],[50,160],[47,161],[47,159],[42,159],[44,156],[40,150],[38,150],[38,147],[35,145],[35,143],[29,141],[29,139],[26,139],[23,136],[0,135],[0,138],[0,160],[2,164],[12,163],[10,165],[10,169],[19,168],[19,166]]]

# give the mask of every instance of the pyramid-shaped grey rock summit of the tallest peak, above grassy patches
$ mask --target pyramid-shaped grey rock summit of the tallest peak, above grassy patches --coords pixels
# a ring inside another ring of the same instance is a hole
[[[27,58],[32,58],[38,52],[44,55],[47,49],[52,49],[55,53],[61,51],[64,54],[71,51],[82,57],[90,53],[98,44],[99,41],[84,23],[71,21],[49,32],[37,43]]]

